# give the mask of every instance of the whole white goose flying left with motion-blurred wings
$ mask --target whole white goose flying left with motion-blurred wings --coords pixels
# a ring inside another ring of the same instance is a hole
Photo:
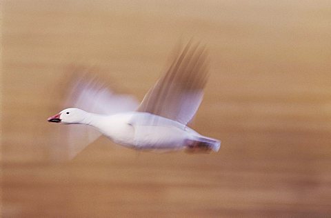
[[[217,152],[219,140],[186,126],[202,101],[207,76],[205,48],[188,43],[138,107],[133,97],[115,95],[93,82],[79,79],[68,94],[68,103],[74,108],[62,110],[48,121],[85,124],[97,130],[90,127],[78,130],[78,126],[67,129],[71,158],[101,134],[137,150]],[[82,145],[77,145],[81,143],[79,139],[84,139]]]

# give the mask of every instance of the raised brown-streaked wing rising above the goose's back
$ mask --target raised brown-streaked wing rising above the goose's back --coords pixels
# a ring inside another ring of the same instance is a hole
[[[197,112],[208,76],[207,52],[188,43],[168,72],[157,81],[137,109],[187,124]]]

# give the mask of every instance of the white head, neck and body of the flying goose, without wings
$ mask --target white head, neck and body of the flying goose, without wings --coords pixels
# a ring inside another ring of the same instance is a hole
[[[78,114],[79,119],[72,120],[72,114]],[[217,151],[220,146],[219,141],[203,137],[182,123],[148,112],[98,115],[79,108],[68,108],[61,111],[58,117],[65,124],[92,126],[115,143],[137,150],[181,150],[193,146],[194,141],[203,142],[201,139],[210,140],[208,148],[211,150]]]

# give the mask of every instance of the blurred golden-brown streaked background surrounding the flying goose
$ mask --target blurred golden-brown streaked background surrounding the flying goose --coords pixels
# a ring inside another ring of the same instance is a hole
[[[330,1],[3,1],[2,217],[328,217]],[[210,155],[100,138],[53,158],[68,66],[141,100],[191,37],[210,48],[192,123]]]

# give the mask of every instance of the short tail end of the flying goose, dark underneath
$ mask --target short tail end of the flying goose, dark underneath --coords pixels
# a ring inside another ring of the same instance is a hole
[[[221,141],[209,137],[194,137],[186,140],[186,151],[188,152],[218,152],[221,147]]]

